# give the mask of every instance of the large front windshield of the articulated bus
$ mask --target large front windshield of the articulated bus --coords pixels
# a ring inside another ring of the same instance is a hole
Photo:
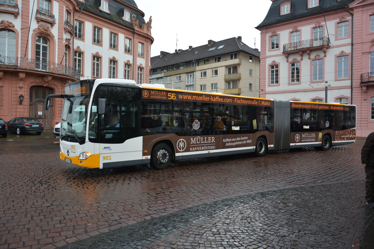
[[[61,139],[76,141],[80,144],[85,142],[89,100],[90,96],[65,99],[61,118]]]

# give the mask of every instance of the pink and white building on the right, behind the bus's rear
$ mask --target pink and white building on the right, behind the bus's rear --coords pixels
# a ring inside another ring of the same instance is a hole
[[[353,104],[357,136],[374,131],[373,14],[373,0],[272,0],[257,27],[260,96]]]

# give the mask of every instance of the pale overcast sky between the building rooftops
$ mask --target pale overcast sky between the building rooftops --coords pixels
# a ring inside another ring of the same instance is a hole
[[[152,16],[151,57],[160,51],[172,53],[188,46],[201,46],[208,40],[242,37],[249,47],[260,49],[260,31],[255,29],[266,16],[271,0],[135,0],[145,14]],[[256,46],[255,39],[256,38]]]

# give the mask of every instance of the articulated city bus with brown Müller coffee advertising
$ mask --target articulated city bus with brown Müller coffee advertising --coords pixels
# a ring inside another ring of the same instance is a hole
[[[86,168],[171,162],[356,140],[356,106],[260,99],[96,79],[67,84],[60,158]]]

